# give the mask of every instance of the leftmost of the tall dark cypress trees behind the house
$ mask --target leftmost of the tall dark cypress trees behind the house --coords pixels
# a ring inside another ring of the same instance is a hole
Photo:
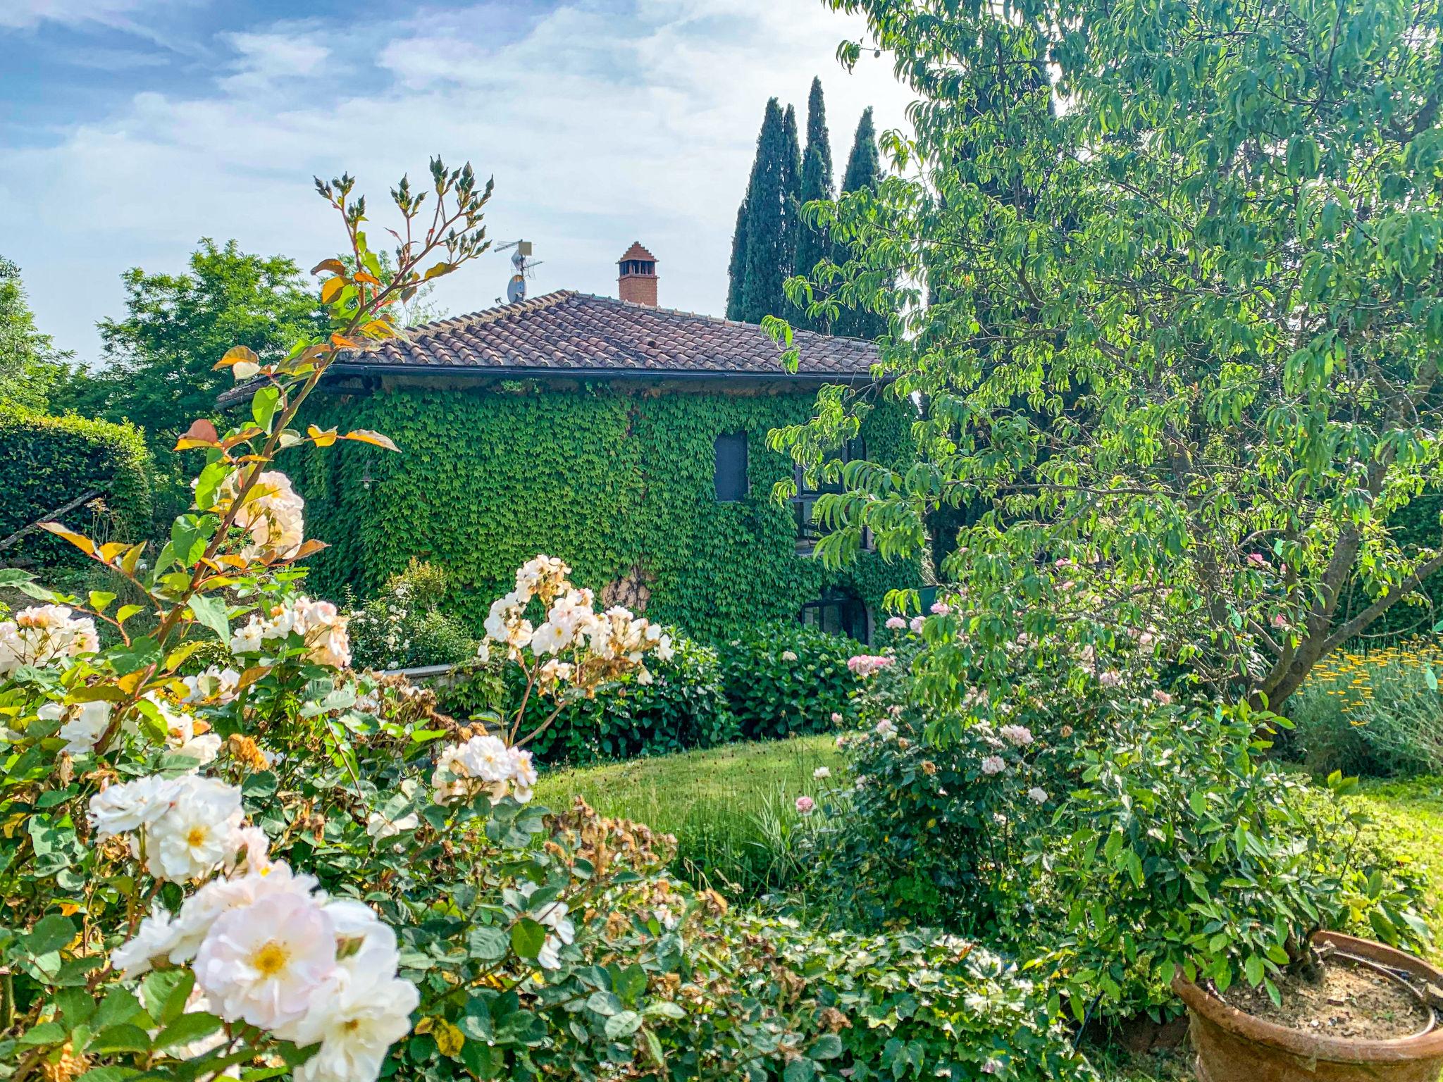
[[[756,137],[756,163],[746,189],[746,237],[742,258],[740,303],[727,307],[732,319],[759,323],[781,312],[786,252],[786,185],[791,173],[782,107],[766,102],[762,131]],[[795,126],[795,118],[794,118]]]

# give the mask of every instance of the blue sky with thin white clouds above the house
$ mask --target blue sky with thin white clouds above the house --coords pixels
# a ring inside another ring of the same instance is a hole
[[[905,123],[886,56],[835,61],[863,35],[820,0],[0,0],[0,255],[95,364],[126,268],[183,271],[202,237],[309,268],[343,244],[312,176],[352,173],[375,232],[439,153],[495,176],[488,237],[534,244],[531,296],[615,296],[641,241],[661,304],[722,315],[766,100],[805,123],[821,76],[838,176],[866,105]],[[509,274],[488,252],[434,302]]]

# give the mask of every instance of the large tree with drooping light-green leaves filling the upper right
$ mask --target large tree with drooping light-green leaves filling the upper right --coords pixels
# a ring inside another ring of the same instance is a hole
[[[843,265],[791,290],[887,313],[925,417],[915,469],[846,467],[821,550],[965,512],[934,690],[1001,679],[1023,630],[1131,629],[1276,707],[1416,597],[1437,524],[1390,515],[1440,482],[1439,0],[828,3],[918,101],[895,175],[814,209]],[[850,413],[776,443],[821,462]]]

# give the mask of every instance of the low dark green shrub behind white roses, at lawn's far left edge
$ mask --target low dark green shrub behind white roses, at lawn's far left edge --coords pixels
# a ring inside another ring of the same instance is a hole
[[[693,639],[672,641],[672,656],[651,667],[652,681],[618,681],[593,698],[569,703],[532,742],[548,763],[583,765],[714,747],[737,737],[736,720],[722,687],[717,652]],[[469,667],[440,692],[443,708],[475,717],[525,695],[525,679],[514,665]],[[532,697],[527,724],[538,726],[548,707]]]

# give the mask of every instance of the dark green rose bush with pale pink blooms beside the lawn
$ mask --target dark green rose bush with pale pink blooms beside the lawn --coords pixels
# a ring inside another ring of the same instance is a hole
[[[921,649],[915,633],[900,636],[857,694],[850,788],[811,840],[818,893],[867,926],[902,918],[1007,942],[1014,920],[1030,920],[1027,840],[1079,780],[1079,750],[1120,714],[1160,704],[1146,667],[1098,665],[1111,656],[1098,651],[1087,664],[1043,664],[1019,648],[1007,694],[968,691],[958,718],[919,694]]]

